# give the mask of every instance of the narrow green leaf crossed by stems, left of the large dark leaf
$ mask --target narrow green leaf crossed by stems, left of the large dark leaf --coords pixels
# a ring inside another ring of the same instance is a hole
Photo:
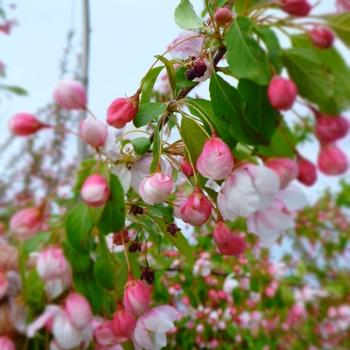
[[[191,114],[200,118],[208,133],[210,133],[210,127],[207,120],[211,123],[216,131],[218,137],[220,137],[228,146],[234,148],[237,141],[232,137],[228,129],[226,121],[222,121],[218,118],[214,111],[211,101],[202,99],[189,99],[186,100],[186,105],[188,106]]]

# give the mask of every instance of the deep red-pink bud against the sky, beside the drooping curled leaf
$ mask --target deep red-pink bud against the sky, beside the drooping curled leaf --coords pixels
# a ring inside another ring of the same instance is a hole
[[[107,123],[117,129],[124,128],[126,123],[134,119],[138,109],[138,96],[117,98],[108,107]]]

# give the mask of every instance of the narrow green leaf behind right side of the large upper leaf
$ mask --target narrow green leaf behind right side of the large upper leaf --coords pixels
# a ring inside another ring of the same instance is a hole
[[[277,35],[270,28],[255,28],[255,33],[263,40],[267,47],[268,58],[277,73],[283,69],[282,50]]]

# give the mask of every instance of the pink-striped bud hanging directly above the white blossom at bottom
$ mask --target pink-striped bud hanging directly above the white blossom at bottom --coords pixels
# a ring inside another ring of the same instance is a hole
[[[134,316],[144,314],[151,302],[149,288],[141,281],[129,277],[124,291],[124,306]]]

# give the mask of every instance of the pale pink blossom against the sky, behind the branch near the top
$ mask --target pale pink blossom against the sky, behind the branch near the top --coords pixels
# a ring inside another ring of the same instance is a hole
[[[203,50],[204,37],[195,32],[185,30],[169,45],[168,49],[173,57],[188,59],[198,57]]]

